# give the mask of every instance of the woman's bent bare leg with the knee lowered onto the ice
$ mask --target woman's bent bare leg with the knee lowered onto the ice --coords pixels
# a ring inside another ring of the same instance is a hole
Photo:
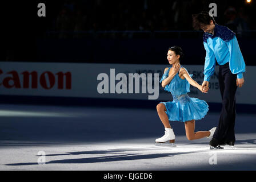
[[[185,130],[188,140],[195,140],[199,138],[209,137],[210,131],[195,132],[195,120],[185,122]]]

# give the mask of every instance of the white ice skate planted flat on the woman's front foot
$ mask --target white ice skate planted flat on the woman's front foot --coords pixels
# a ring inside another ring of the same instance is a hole
[[[175,144],[175,135],[173,129],[165,128],[165,135],[161,138],[155,139],[156,146],[172,146],[176,147]]]

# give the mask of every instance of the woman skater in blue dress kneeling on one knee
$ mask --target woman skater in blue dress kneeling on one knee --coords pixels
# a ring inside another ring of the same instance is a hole
[[[157,113],[161,119],[163,126],[165,126],[165,135],[155,140],[155,144],[170,142],[170,145],[175,146],[175,135],[170,126],[169,121],[181,121],[185,123],[186,137],[189,140],[199,139],[203,137],[211,138],[216,127],[209,131],[195,130],[195,120],[205,117],[209,110],[205,101],[198,98],[190,98],[187,92],[190,92],[190,84],[201,90],[207,92],[209,87],[202,88],[196,81],[194,81],[187,69],[179,64],[179,60],[183,57],[183,51],[180,47],[174,46],[169,48],[167,53],[167,60],[172,67],[165,68],[160,83],[163,88],[171,92],[173,101],[160,102],[157,105]]]

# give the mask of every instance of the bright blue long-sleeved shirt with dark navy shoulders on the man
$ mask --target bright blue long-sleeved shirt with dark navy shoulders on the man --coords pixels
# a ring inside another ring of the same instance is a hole
[[[215,24],[214,34],[203,34],[203,46],[206,50],[204,81],[209,81],[214,73],[215,59],[219,65],[229,63],[230,71],[243,77],[245,61],[243,60],[235,33],[229,28]]]

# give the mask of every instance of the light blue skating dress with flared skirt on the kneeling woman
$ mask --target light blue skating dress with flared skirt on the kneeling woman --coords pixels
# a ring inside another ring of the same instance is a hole
[[[171,68],[171,67],[170,67]],[[170,68],[163,74],[160,83],[168,77]],[[181,68],[184,68],[181,66]],[[186,68],[185,68],[186,69]],[[187,70],[186,70],[187,71]],[[190,76],[192,77],[193,74]],[[199,120],[205,117],[209,110],[205,101],[198,98],[189,97],[190,84],[186,80],[179,77],[179,72],[174,76],[173,80],[165,86],[167,92],[173,95],[173,101],[160,102],[165,105],[169,121],[191,121]]]

